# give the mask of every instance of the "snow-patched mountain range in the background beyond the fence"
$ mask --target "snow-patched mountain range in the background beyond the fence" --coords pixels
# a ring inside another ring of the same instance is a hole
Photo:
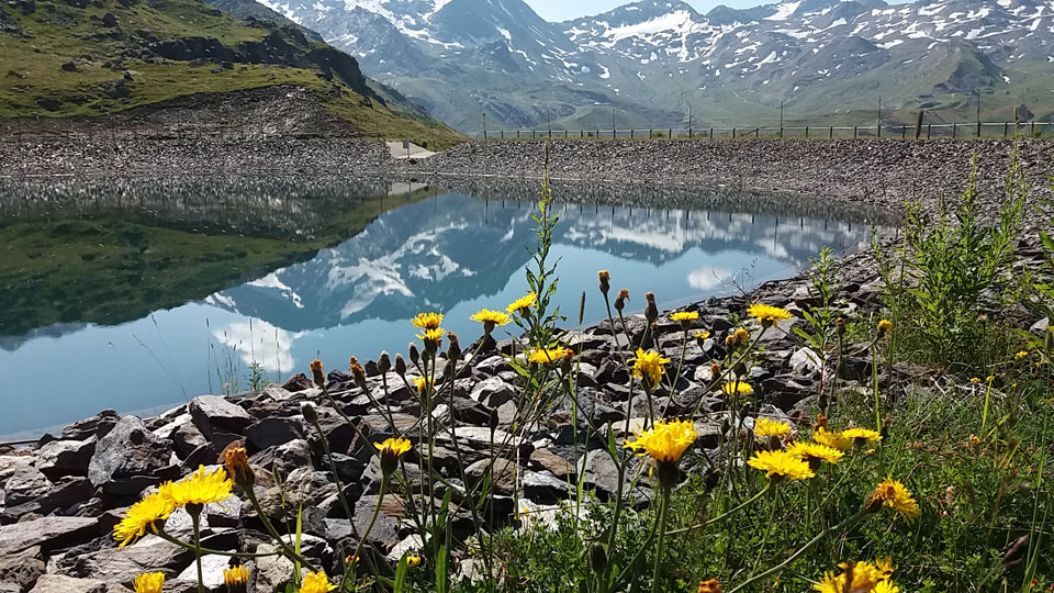
[[[1054,118],[1054,1],[642,0],[562,23],[522,0],[262,0],[455,127]],[[492,127],[492,128],[493,128]]]

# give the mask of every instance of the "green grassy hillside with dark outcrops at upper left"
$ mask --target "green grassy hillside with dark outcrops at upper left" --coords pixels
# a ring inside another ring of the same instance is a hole
[[[92,118],[193,93],[294,83],[368,135],[459,136],[374,91],[346,54],[198,0],[15,0],[0,7],[0,118]]]

